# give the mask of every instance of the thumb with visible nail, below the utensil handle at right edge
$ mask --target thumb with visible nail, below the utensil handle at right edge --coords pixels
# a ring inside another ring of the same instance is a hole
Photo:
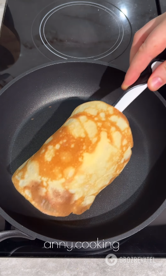
[[[166,61],[160,64],[148,80],[148,88],[156,91],[166,83]]]

